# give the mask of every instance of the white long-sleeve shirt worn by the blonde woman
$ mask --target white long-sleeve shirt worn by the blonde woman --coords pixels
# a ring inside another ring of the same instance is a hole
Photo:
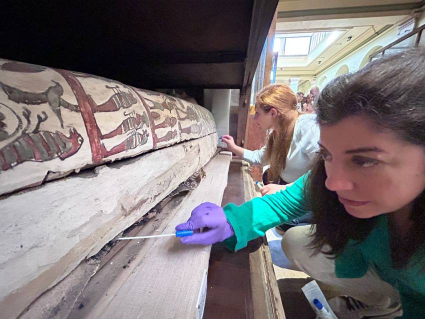
[[[280,171],[280,177],[290,183],[305,174],[311,159],[318,148],[320,129],[316,123],[315,114],[301,114],[295,121],[292,142],[286,155],[286,166]],[[266,165],[264,160],[265,148],[257,150],[245,149],[243,159],[251,164]]]

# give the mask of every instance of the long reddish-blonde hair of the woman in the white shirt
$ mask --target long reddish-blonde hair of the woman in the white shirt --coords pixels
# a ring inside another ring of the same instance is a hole
[[[296,95],[286,84],[269,84],[256,95],[255,104],[264,112],[271,108],[277,110],[278,120],[268,135],[265,148],[265,160],[270,164],[268,179],[278,182],[280,171],[285,168],[286,156],[293,136],[293,112],[296,111]],[[290,114],[290,115],[289,115]],[[297,115],[299,112],[297,112]],[[297,116],[296,115],[296,116]]]

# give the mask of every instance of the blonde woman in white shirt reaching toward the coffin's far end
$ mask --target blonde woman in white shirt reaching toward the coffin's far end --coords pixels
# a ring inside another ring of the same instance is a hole
[[[317,150],[315,115],[300,113],[296,102],[295,93],[286,84],[270,84],[257,93],[254,118],[261,129],[272,129],[261,149],[245,149],[230,135],[221,136],[236,156],[251,164],[270,165],[263,176],[262,195],[282,190],[303,175]]]

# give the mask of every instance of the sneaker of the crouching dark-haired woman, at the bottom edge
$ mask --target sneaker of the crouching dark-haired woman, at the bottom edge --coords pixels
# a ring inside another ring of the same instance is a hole
[[[339,296],[331,298],[328,303],[339,319],[393,319],[403,314],[398,302],[387,308],[377,308],[352,297]]]

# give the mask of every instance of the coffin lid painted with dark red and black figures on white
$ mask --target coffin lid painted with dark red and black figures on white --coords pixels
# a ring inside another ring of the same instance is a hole
[[[215,132],[205,108],[166,94],[0,59],[0,194],[48,172],[134,156]]]

